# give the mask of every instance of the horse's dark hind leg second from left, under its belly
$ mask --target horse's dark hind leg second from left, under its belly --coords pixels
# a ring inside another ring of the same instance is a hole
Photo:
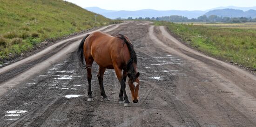
[[[99,80],[99,83],[100,83],[100,89],[101,89],[101,96],[103,96],[103,101],[109,101],[108,99],[108,96],[106,95],[105,93],[105,90],[104,90],[104,86],[103,86],[103,77],[104,77],[104,72],[105,72],[105,68],[102,68],[100,67],[99,69],[99,73],[98,73],[98,80]]]

